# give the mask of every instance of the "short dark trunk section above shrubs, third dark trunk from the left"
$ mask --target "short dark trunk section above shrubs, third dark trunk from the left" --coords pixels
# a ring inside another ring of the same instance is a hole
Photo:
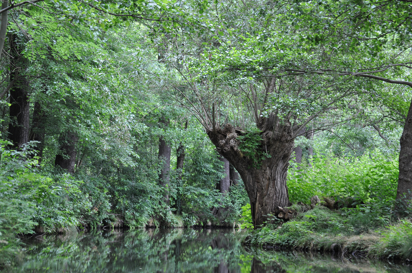
[[[55,166],[66,169],[70,174],[75,173],[77,139],[77,134],[73,132],[61,133],[59,137],[60,151],[54,160]]]

